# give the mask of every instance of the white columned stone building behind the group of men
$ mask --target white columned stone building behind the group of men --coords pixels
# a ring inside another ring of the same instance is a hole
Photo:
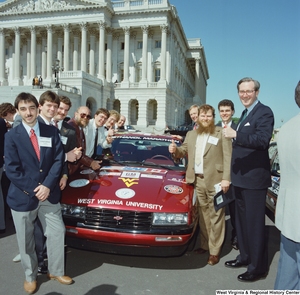
[[[208,79],[201,40],[187,39],[172,0],[0,3],[0,103],[51,89],[72,100],[70,116],[105,107],[160,130],[190,122]]]

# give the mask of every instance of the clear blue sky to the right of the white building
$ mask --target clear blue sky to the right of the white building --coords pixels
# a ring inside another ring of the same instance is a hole
[[[186,37],[200,38],[204,46],[208,104],[217,108],[220,100],[231,99],[239,117],[236,84],[252,77],[261,83],[259,100],[273,110],[275,127],[299,113],[294,94],[300,80],[300,1],[169,1]]]

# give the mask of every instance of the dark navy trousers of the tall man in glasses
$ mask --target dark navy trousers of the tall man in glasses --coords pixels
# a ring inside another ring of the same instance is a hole
[[[240,250],[237,260],[248,264],[247,271],[250,273],[265,273],[268,270],[265,235],[267,189],[244,189],[235,186],[233,188]]]

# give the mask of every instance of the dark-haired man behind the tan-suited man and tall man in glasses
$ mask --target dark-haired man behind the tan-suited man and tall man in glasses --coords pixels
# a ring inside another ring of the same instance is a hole
[[[216,124],[216,126],[220,126],[222,128],[231,127],[236,129],[236,123],[232,121],[232,116],[234,115],[234,103],[229,99],[223,99],[218,104],[218,110],[221,117],[221,122]],[[227,194],[231,194],[232,191],[229,190]],[[236,236],[236,227],[235,227],[235,202],[231,202],[228,204],[230,221],[232,226],[231,231],[231,246],[233,249],[238,250],[238,242]]]

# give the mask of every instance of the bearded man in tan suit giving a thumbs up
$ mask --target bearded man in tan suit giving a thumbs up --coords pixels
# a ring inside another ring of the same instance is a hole
[[[226,193],[230,184],[231,141],[222,136],[222,128],[215,126],[215,110],[210,105],[199,108],[198,128],[189,131],[181,147],[175,142],[169,152],[175,158],[188,154],[187,183],[194,184],[199,208],[200,248],[196,253],[209,251],[207,263],[215,265],[225,236],[225,209],[215,211],[215,185]]]

